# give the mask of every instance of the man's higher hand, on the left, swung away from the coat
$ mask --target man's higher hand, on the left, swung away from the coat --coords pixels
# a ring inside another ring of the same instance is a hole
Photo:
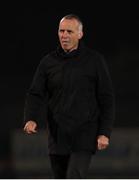
[[[24,126],[24,131],[28,134],[36,133],[37,123],[35,121],[28,121]]]

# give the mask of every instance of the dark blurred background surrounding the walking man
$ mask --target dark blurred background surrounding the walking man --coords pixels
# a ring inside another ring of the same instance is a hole
[[[137,4],[47,3],[12,2],[1,7],[0,178],[51,178],[45,114],[40,133],[29,137],[22,132],[23,109],[36,67],[56,48],[59,20],[69,13],[81,17],[84,42],[104,55],[116,96],[112,143],[98,153],[94,165],[92,161],[89,178],[139,178]]]

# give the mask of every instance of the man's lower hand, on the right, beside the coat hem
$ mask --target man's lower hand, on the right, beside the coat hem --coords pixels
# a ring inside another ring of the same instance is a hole
[[[99,135],[97,138],[98,150],[106,149],[108,145],[109,145],[109,138],[104,135]]]

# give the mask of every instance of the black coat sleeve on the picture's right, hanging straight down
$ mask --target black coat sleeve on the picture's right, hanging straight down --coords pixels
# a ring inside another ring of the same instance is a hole
[[[115,117],[115,98],[110,73],[101,55],[97,58],[97,99],[99,106],[98,135],[110,138]]]

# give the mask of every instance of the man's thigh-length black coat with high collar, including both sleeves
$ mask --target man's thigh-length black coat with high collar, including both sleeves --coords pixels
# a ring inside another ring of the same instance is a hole
[[[110,137],[114,96],[104,58],[80,44],[58,47],[40,62],[25,105],[25,121],[37,122],[48,94],[50,154],[96,151],[96,137]],[[39,124],[39,122],[38,122]]]

